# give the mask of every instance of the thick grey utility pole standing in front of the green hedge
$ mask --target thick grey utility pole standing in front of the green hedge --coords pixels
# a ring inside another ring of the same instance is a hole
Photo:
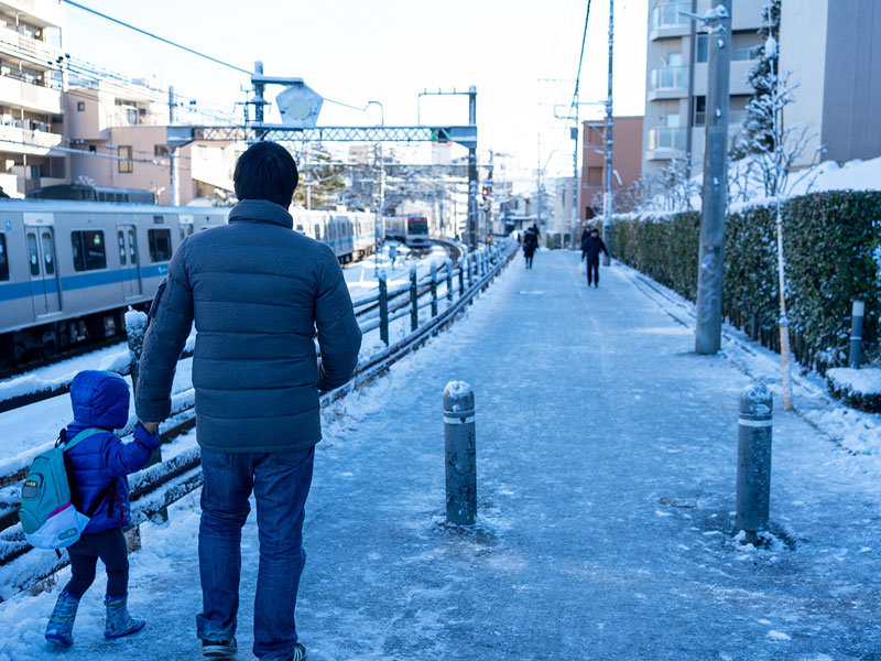
[[[721,346],[725,210],[728,178],[728,102],[731,76],[731,0],[718,0],[703,17],[709,28],[707,128],[700,257],[697,271],[695,350],[716,354]]]

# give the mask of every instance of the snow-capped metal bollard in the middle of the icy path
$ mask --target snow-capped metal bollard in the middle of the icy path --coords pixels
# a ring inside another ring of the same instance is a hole
[[[444,388],[447,522],[471,525],[477,517],[475,393],[465,381]]]

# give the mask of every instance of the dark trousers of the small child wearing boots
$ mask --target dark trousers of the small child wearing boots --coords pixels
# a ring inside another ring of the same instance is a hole
[[[107,570],[107,594],[124,597],[129,592],[129,550],[122,530],[113,528],[96,534],[84,534],[67,548],[70,559],[70,581],[64,589],[77,599],[83,598],[95,581],[95,567],[101,559]]]

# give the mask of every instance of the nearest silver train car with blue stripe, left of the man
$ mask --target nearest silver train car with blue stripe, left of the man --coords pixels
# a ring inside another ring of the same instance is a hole
[[[65,201],[0,202],[0,369],[123,332],[185,237],[229,209]]]

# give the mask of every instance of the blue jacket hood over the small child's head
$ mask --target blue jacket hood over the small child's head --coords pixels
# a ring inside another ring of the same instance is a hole
[[[129,384],[113,372],[85,370],[70,382],[70,403],[76,422],[119,430],[129,421]]]

